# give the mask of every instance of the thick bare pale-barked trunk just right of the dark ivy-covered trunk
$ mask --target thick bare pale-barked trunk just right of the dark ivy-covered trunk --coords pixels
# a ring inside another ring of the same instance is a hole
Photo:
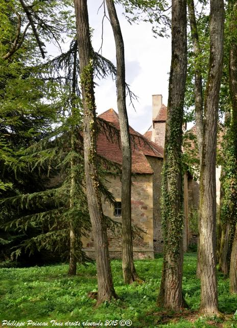
[[[204,104],[200,173],[201,311],[218,313],[216,270],[216,153],[219,92],[223,63],[224,3],[210,0],[210,58]]]

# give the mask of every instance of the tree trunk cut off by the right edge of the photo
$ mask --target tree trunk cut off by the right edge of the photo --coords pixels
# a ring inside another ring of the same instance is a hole
[[[236,41],[236,28],[237,28],[237,1],[233,0],[229,2],[232,4],[231,21],[230,21],[230,33],[232,33],[232,42],[230,43],[229,52],[229,85],[230,95],[232,102],[231,113],[231,132],[233,137],[233,149],[234,149],[234,177],[231,186],[234,216],[232,222],[236,225],[237,221],[237,41]],[[232,245],[231,259],[230,259],[230,292],[237,293],[237,226],[235,227],[234,240]]]

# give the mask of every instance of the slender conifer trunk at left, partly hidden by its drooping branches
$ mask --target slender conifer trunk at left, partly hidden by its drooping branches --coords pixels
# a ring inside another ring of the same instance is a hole
[[[72,118],[75,116],[75,98],[76,98],[76,70],[77,70],[77,50],[74,52],[74,63],[73,63],[73,83],[72,83]],[[71,185],[70,185],[70,208],[75,206],[75,188],[76,188],[76,177],[75,177],[75,125],[73,124],[71,131],[71,158],[70,158],[70,174],[71,174]],[[81,228],[77,227],[77,231],[81,234]],[[70,258],[69,258],[69,270],[68,275],[75,276],[77,272],[77,258],[76,258],[76,232],[74,228],[74,220],[70,220]]]

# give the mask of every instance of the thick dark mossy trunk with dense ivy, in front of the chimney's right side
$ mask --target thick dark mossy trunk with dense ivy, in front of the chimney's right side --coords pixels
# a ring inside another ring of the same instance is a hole
[[[185,306],[183,273],[182,123],[187,71],[186,1],[172,1],[172,59],[162,180],[164,257],[158,304],[166,309]]]

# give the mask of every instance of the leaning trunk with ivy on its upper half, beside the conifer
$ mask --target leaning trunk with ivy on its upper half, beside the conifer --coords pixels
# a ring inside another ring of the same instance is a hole
[[[77,24],[80,77],[84,109],[84,161],[88,210],[96,253],[98,300],[101,303],[116,297],[109,262],[106,223],[99,191],[97,162],[97,121],[94,99],[92,46],[86,0],[74,0]]]

